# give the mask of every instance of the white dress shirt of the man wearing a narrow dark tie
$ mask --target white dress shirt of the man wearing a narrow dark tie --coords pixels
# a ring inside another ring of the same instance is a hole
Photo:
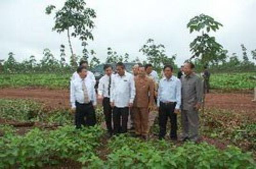
[[[111,74],[111,81],[113,79],[114,79],[114,74]],[[109,76],[105,74],[103,77],[100,78],[98,94],[103,97],[110,98],[110,95],[108,95],[108,85],[109,85]]]

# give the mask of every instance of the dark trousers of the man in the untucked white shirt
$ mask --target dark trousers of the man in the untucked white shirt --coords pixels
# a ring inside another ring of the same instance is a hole
[[[127,132],[128,115],[129,115],[128,107],[125,107],[125,108],[114,107],[113,109],[114,134]]]

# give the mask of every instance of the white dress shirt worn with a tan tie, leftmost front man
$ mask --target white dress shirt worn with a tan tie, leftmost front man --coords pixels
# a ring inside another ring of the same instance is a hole
[[[79,76],[79,78],[75,78],[70,82],[70,103],[72,108],[76,108],[75,102],[84,104],[84,91],[82,89],[83,82],[87,88],[89,100],[94,106],[97,104],[94,82],[89,77],[86,77],[83,81],[83,79],[81,79]]]

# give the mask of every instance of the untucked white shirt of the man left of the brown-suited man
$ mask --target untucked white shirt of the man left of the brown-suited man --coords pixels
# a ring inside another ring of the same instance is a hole
[[[135,84],[132,74],[125,72],[123,76],[115,74],[111,82],[110,102],[118,108],[128,107],[135,97]]]

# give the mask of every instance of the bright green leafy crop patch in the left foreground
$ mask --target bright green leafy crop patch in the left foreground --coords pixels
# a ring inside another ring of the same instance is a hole
[[[0,138],[0,168],[35,168],[73,159],[90,164],[103,131],[99,126],[76,130],[73,126],[57,130],[30,130],[24,136],[5,134]]]

